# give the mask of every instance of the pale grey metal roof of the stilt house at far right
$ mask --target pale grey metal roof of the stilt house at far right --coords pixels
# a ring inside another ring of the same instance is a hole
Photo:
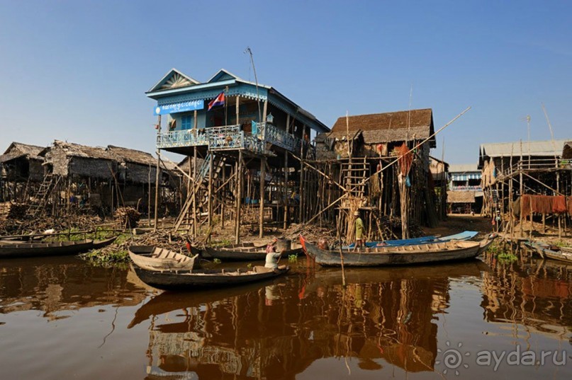
[[[530,156],[561,156],[562,149],[566,140],[556,140],[552,142],[551,140],[545,141],[534,141],[534,142],[522,142],[522,154],[528,156],[530,151]],[[520,156],[521,142],[499,142],[493,144],[481,144],[480,155],[488,157],[510,157]]]

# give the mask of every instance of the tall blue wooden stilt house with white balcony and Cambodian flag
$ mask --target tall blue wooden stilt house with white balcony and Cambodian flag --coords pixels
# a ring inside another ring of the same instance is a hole
[[[271,218],[284,219],[286,226],[288,197],[298,185],[291,183],[288,173],[300,168],[300,162],[288,160],[288,155],[301,159],[312,154],[312,131],[329,130],[322,122],[275,88],[245,81],[225,69],[205,82],[171,69],[145,94],[157,102],[157,149],[183,154],[193,163],[186,173],[186,205],[175,229],[196,233],[200,216],[212,225],[215,213],[224,224],[225,205],[227,214],[232,205],[238,241],[241,205],[254,203],[259,205],[262,236],[265,195],[267,207],[272,207],[276,203],[269,197],[277,192],[279,203],[286,205],[280,215],[274,210]]]

